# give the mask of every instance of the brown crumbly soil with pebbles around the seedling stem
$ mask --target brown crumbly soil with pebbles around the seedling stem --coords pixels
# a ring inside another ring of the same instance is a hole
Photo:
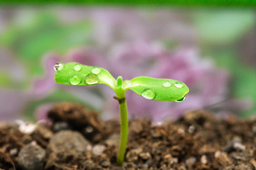
[[[115,163],[118,119],[74,103],[48,112],[52,123],[0,122],[2,169],[256,169],[256,119],[216,118],[205,110],[154,125],[130,121],[122,167]]]

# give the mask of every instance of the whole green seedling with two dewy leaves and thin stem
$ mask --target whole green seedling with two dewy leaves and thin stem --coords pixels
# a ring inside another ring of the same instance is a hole
[[[132,80],[123,80],[121,76],[115,80],[109,71],[103,68],[82,65],[77,62],[56,63],[54,70],[54,80],[57,83],[74,86],[105,84],[114,90],[116,97],[113,98],[119,102],[121,115],[121,135],[117,153],[117,165],[123,165],[128,138],[128,112],[125,91],[133,90],[145,99],[160,101],[182,101],[189,92],[189,88],[178,80],[151,77],[136,77]]]

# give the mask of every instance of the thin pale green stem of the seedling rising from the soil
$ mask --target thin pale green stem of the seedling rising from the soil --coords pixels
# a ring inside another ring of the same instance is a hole
[[[126,144],[128,140],[128,112],[127,112],[127,104],[125,99],[125,90],[123,90],[122,86],[118,90],[115,90],[117,99],[119,101],[119,109],[120,109],[120,118],[121,118],[121,131],[120,131],[120,144],[119,150],[117,153],[116,161],[117,165],[122,166],[124,160],[124,154],[126,151]]]

